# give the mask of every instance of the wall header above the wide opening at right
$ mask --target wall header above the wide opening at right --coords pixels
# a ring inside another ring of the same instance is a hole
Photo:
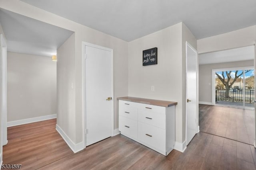
[[[256,40],[256,25],[236,31],[199,39],[198,53],[208,53],[238,47],[254,45]]]

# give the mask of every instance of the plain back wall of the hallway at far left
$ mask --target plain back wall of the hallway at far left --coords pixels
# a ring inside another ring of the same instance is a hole
[[[7,53],[7,121],[56,114],[56,62]]]

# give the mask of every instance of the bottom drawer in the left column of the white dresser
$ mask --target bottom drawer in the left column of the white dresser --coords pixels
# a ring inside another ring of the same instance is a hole
[[[137,139],[138,121],[119,115],[119,131],[121,131],[123,135]]]

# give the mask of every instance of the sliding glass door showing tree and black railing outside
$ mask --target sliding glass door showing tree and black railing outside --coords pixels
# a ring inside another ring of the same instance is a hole
[[[212,96],[216,106],[254,108],[254,68],[212,70]]]

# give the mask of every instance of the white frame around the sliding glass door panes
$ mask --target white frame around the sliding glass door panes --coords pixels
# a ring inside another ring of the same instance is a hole
[[[235,107],[235,108],[241,108],[241,109],[253,109],[252,107],[245,107],[244,103],[243,103],[243,106],[240,107],[240,106],[235,106],[235,105],[234,106],[233,105],[221,105],[221,104],[216,104],[216,102],[215,102],[215,98],[216,98],[216,94],[215,94],[215,72],[218,72],[218,71],[232,71],[232,70],[248,70],[248,68],[249,69],[250,68],[254,69],[254,66],[212,69],[212,105],[213,106],[226,106],[226,107]],[[245,73],[243,73],[243,82],[245,80],[245,75],[244,74]],[[243,90],[245,92],[245,86],[243,86]],[[245,100],[245,96],[243,96],[243,101],[244,100]]]

